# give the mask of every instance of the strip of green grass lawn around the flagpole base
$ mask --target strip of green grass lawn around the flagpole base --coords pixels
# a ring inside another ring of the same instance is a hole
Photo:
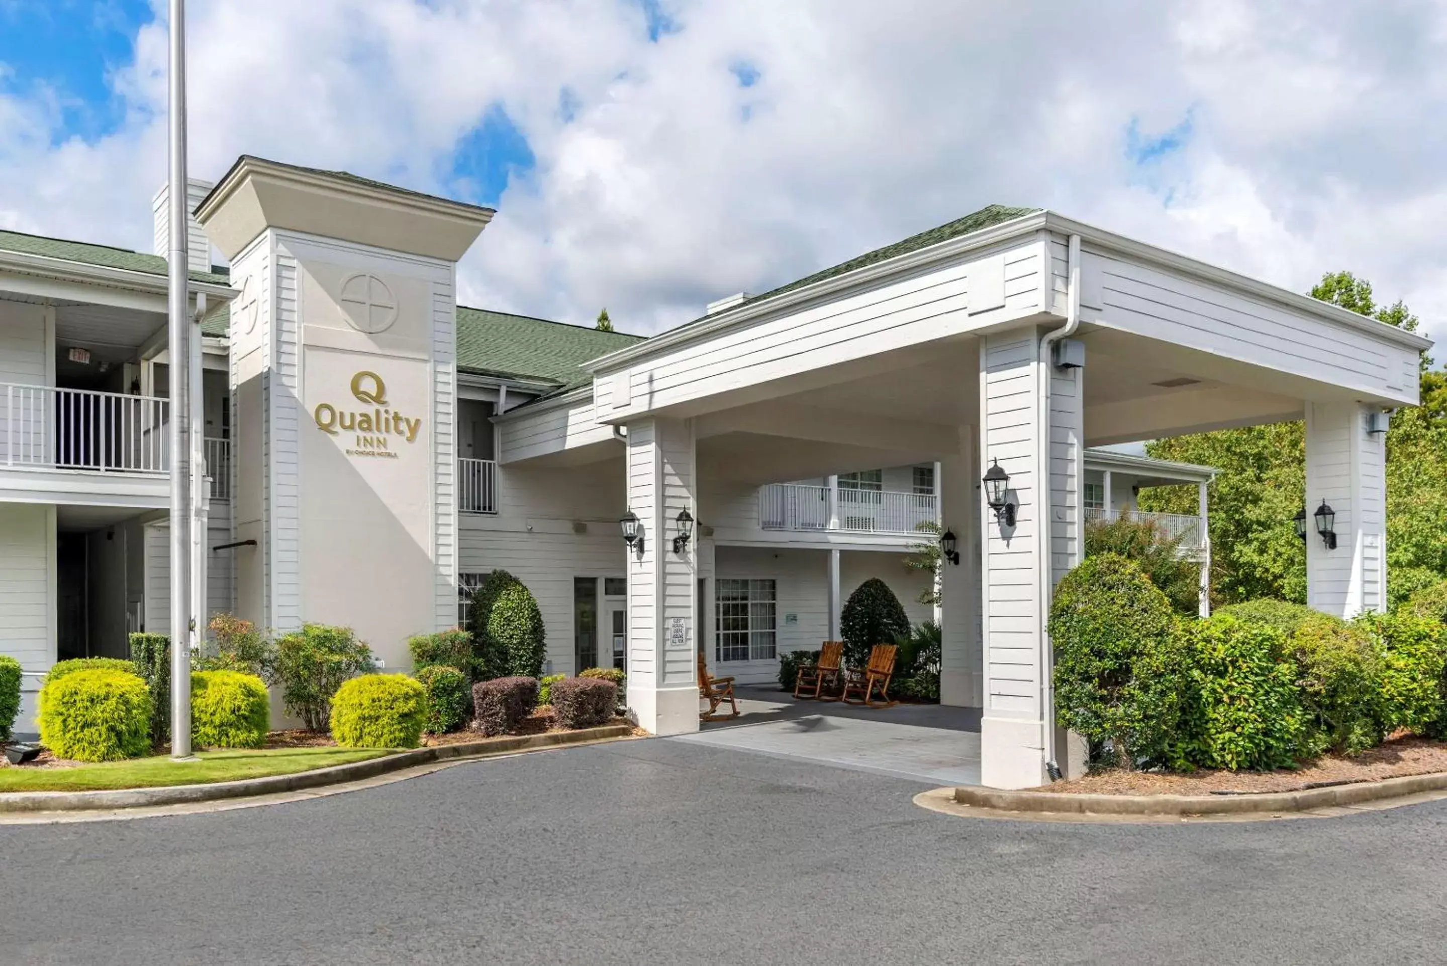
[[[165,755],[156,755],[75,768],[0,768],[0,792],[200,785],[239,778],[294,775],[300,771],[349,765],[388,753],[375,748],[263,748],[200,752],[198,762],[174,762]]]

